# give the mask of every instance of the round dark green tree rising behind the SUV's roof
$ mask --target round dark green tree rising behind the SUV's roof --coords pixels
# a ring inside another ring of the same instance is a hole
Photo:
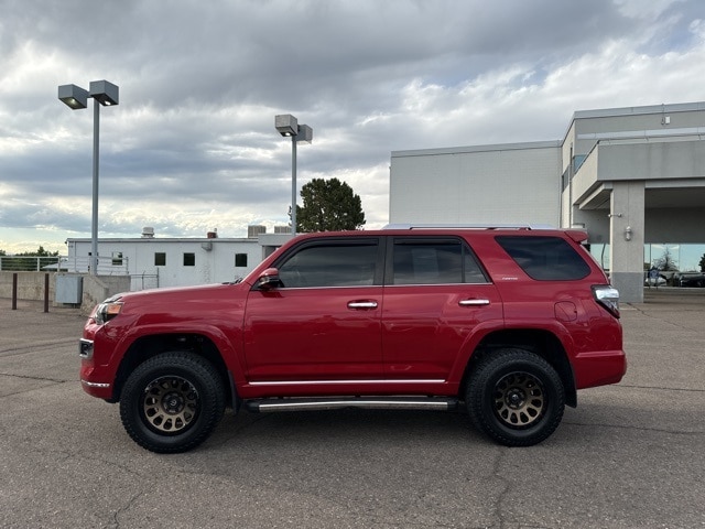
[[[365,213],[360,196],[338,179],[314,179],[301,188],[303,206],[296,206],[297,231],[361,229]]]

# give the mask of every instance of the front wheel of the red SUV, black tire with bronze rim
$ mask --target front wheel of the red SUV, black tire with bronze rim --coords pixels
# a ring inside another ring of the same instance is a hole
[[[203,443],[225,411],[225,390],[213,365],[175,352],[150,358],[122,387],[120,418],[140,446],[156,453],[186,452]]]

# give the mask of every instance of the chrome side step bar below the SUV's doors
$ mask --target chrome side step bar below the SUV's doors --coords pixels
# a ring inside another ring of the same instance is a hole
[[[339,410],[343,408],[452,411],[458,407],[458,399],[453,397],[274,398],[247,400],[245,406],[252,413]]]

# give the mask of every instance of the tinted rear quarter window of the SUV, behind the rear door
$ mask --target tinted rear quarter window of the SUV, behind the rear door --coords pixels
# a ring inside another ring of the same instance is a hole
[[[497,236],[507,253],[538,281],[572,281],[586,278],[590,267],[561,237]]]

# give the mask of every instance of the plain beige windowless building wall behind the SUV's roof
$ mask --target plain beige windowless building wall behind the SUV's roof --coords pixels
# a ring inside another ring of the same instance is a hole
[[[558,226],[558,142],[392,152],[390,223]]]

